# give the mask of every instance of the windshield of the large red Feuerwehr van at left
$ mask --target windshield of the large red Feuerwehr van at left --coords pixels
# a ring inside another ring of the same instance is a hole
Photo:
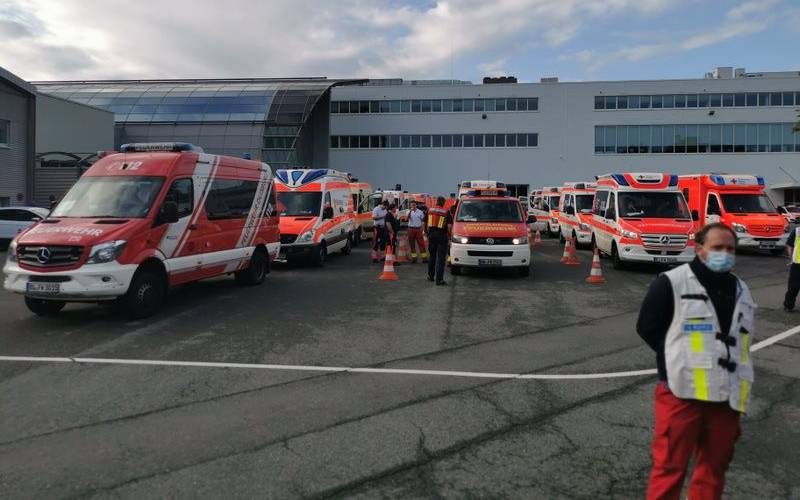
[[[164,184],[163,177],[82,177],[51,217],[147,217]]]

